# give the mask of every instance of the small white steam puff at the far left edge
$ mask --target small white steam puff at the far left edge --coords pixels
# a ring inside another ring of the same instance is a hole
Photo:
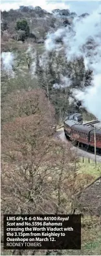
[[[3,70],[5,70],[8,75],[14,75],[14,53],[11,53],[9,51],[1,53],[1,60],[3,64]]]

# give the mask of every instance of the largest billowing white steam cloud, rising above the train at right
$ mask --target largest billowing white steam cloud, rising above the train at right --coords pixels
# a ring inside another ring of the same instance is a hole
[[[93,70],[92,86],[84,92],[74,90],[75,97],[83,100],[83,105],[101,120],[101,6],[91,15],[83,19],[75,18],[73,27],[65,27],[57,33],[48,35],[45,43],[47,51],[56,49],[57,34],[62,37],[67,60],[83,57],[85,70]],[[88,49],[87,42],[93,42],[93,48]]]

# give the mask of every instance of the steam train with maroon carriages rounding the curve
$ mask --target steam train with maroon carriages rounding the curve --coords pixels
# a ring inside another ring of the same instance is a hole
[[[90,151],[95,151],[96,139],[96,152],[101,154],[101,122],[98,120],[83,124],[81,114],[67,116],[64,120],[64,133],[75,146]]]

